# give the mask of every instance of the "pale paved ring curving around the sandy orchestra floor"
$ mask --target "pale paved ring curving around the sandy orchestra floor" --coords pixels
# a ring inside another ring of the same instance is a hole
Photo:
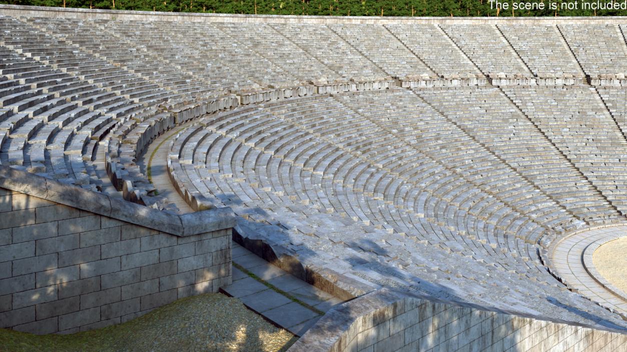
[[[584,264],[584,252],[588,246],[598,241],[609,241],[627,235],[627,226],[609,226],[589,229],[562,239],[552,253],[552,263],[557,273],[569,287],[577,289],[579,294],[616,311],[627,314],[627,301],[614,294],[603,284],[602,278],[595,278]],[[586,253],[591,255],[591,253]]]

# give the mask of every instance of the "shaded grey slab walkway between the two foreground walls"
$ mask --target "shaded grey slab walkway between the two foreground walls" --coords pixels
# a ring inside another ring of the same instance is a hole
[[[302,336],[332,306],[342,303],[235,242],[233,284],[221,291],[240,298],[248,308],[297,336]]]

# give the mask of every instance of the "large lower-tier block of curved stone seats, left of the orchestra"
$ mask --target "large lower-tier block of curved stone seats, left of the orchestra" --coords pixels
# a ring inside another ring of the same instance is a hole
[[[443,293],[428,282],[446,283],[450,292],[484,306],[547,309],[562,318],[570,313],[548,303],[549,296],[585,304],[559,288],[537,255],[535,242],[559,221],[527,216],[521,213],[525,206],[500,201],[517,204],[507,196],[511,186],[493,184],[488,193],[472,176],[487,172],[479,171],[485,166],[456,169],[454,158],[443,158],[449,151],[444,146],[419,151],[422,139],[445,136],[437,131],[463,139],[462,129],[452,123],[445,129],[446,119],[420,99],[395,89],[287,99],[216,114],[177,136],[169,170],[188,201],[202,194],[219,208],[233,208],[245,219],[238,233],[305,264],[435,296]],[[472,148],[467,138],[465,148]],[[474,153],[479,149],[466,154],[468,161]],[[572,168],[569,172],[577,176]],[[510,171],[508,177],[514,183],[517,176]],[[579,221],[544,197],[537,203],[547,208],[533,211],[548,214],[554,208],[572,223]],[[500,281],[498,287],[488,289],[488,277]]]

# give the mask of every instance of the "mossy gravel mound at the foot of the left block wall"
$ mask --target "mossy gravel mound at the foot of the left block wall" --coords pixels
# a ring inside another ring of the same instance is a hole
[[[124,324],[71,335],[0,329],[0,351],[285,351],[293,334],[246,309],[239,299],[201,294]]]

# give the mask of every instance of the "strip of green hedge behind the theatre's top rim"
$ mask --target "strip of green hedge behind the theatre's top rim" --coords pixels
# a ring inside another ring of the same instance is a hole
[[[624,0],[599,0],[622,3]],[[294,14],[322,16],[626,16],[627,10],[581,9],[597,0],[504,0],[497,11],[489,0],[0,0],[0,3],[140,11],[194,13]],[[578,9],[567,4],[578,3]],[[544,4],[544,9],[518,9],[514,3]],[[550,9],[556,3],[557,9]],[[562,5],[564,4],[564,5]],[[564,6],[564,8],[562,8]],[[498,12],[498,13],[497,13]]]

